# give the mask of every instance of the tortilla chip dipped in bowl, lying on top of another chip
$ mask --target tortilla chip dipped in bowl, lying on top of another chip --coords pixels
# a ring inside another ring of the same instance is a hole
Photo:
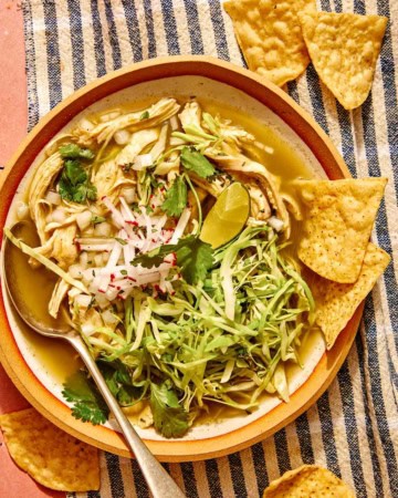
[[[341,283],[357,280],[387,178],[301,180],[304,221],[298,258]]]

